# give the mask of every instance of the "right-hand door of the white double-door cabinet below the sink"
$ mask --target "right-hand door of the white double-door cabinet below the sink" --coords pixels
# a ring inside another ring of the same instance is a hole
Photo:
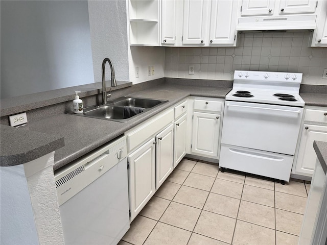
[[[155,136],[156,140],[156,189],[173,171],[174,126],[170,125]]]

